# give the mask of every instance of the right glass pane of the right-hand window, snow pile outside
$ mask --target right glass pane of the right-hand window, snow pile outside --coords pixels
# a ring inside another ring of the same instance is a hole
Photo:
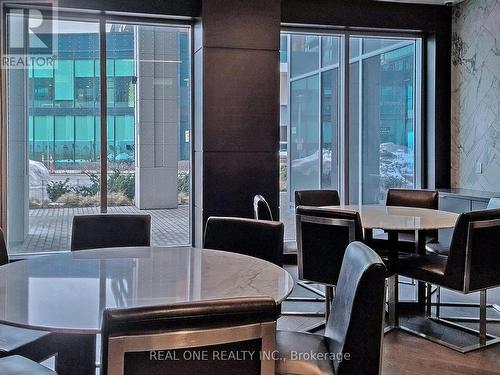
[[[416,186],[417,41],[351,38],[351,202],[384,203],[390,188]]]

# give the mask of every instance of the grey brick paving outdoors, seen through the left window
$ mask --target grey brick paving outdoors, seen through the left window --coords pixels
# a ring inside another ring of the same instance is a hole
[[[153,245],[189,243],[189,205],[176,209],[139,210],[135,206],[110,207],[109,213],[149,214]],[[11,253],[68,250],[75,215],[98,214],[98,207],[31,209],[29,234],[24,243],[11,246]]]

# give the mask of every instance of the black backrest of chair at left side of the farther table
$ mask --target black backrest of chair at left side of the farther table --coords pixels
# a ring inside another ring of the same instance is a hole
[[[295,216],[299,278],[336,285],[347,245],[363,240],[359,213],[298,206]]]

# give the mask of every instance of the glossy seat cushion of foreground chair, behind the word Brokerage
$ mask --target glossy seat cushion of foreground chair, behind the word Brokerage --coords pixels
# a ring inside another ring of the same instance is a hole
[[[328,343],[323,336],[310,333],[277,331],[279,360],[277,374],[333,374]]]

